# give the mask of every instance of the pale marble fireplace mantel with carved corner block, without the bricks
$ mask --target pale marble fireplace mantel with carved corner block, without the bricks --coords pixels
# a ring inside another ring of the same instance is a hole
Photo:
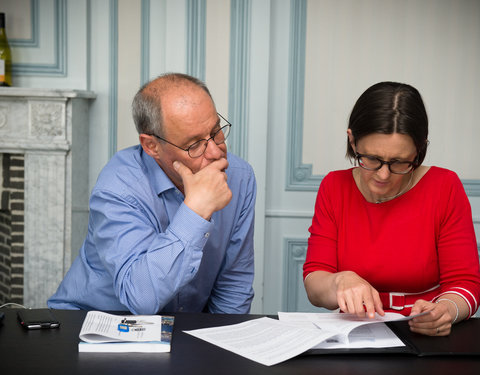
[[[88,216],[90,91],[0,88],[0,153],[24,154],[24,305],[45,307]]]

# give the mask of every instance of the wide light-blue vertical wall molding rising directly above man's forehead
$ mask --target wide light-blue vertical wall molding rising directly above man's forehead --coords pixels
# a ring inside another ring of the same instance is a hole
[[[205,81],[206,0],[187,0],[187,74]]]

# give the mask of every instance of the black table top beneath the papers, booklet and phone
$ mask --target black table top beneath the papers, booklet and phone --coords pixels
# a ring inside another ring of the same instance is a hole
[[[55,310],[55,316],[61,322],[60,328],[30,331],[18,324],[17,309],[2,311],[5,312],[3,324],[0,323],[2,375],[480,374],[480,356],[303,355],[267,367],[183,333],[183,330],[240,323],[259,318],[259,315],[173,314],[175,326],[170,353],[79,353],[78,334],[85,311]]]

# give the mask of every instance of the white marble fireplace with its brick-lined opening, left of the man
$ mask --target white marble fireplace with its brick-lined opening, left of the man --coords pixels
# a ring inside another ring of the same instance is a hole
[[[45,307],[85,236],[89,91],[0,88],[0,298]]]

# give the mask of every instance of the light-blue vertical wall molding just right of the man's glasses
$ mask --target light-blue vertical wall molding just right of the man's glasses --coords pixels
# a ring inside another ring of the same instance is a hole
[[[251,0],[231,0],[230,4],[228,118],[233,135],[228,145],[233,153],[247,159],[252,5]]]

